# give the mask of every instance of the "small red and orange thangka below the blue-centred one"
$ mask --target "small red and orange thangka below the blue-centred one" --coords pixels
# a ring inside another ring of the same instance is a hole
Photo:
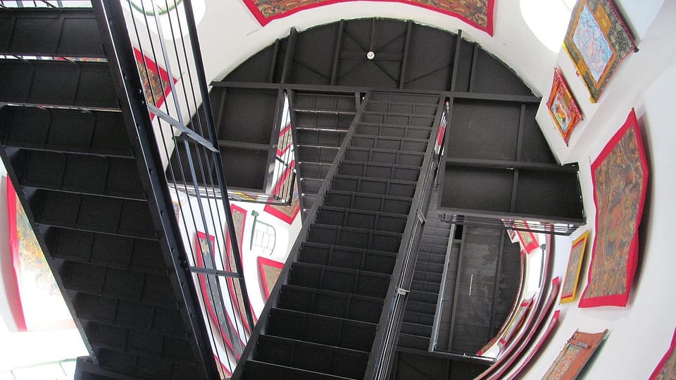
[[[547,100],[547,109],[556,124],[556,129],[568,145],[570,132],[582,120],[582,112],[558,68],[554,68],[554,80],[551,84],[549,100]]]

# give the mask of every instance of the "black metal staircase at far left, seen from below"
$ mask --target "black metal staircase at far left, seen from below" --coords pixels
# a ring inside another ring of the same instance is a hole
[[[92,353],[78,378],[213,376],[94,9],[0,9],[0,53],[43,58],[0,59],[0,156]]]

